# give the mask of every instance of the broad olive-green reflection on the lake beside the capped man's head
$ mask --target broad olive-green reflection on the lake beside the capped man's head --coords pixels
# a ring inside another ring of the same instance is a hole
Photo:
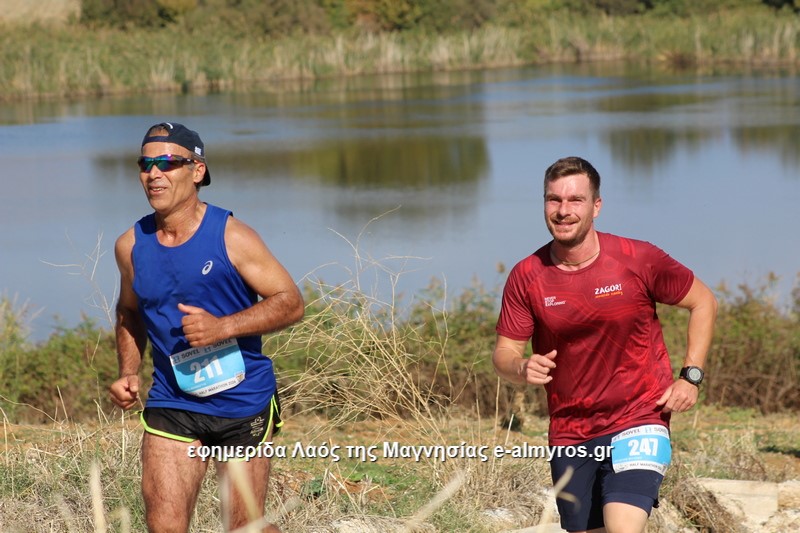
[[[98,156],[93,163],[103,182],[113,176],[135,180],[132,156]],[[348,225],[402,206],[395,218],[414,231],[469,216],[491,166],[485,139],[432,136],[327,140],[294,150],[224,149],[209,165],[214,186],[243,187],[265,199],[286,181],[331,189],[317,201]]]

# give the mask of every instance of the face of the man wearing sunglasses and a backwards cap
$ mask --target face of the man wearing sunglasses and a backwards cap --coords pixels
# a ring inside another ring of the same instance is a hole
[[[186,148],[166,142],[147,143],[142,146],[144,157],[172,155],[191,157]],[[196,200],[198,185],[203,181],[205,164],[199,161],[182,164],[175,169],[162,171],[153,165],[149,171],[139,172],[147,201],[162,214],[169,213],[187,201]]]

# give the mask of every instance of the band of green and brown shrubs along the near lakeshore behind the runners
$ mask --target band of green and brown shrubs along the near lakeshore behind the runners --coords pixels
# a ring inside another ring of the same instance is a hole
[[[800,409],[800,285],[784,310],[770,295],[774,281],[717,290],[719,313],[701,388],[706,402],[763,413]],[[475,281],[450,296],[434,280],[404,304],[399,295],[383,302],[357,284],[318,281],[304,287],[304,297],[306,318],[265,337],[264,353],[276,361],[288,412],[413,418],[460,406],[506,420],[546,413],[541,387],[499,381],[492,367],[499,283],[487,289]],[[2,300],[0,311],[0,409],[6,417],[85,421],[96,420],[98,410],[111,412],[107,389],[117,375],[111,332],[84,320],[31,345],[23,310]],[[658,314],[677,372],[688,312],[659,306]],[[150,355],[143,366],[147,390]]]

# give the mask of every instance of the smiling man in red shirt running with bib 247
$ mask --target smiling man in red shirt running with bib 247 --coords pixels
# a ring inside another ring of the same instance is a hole
[[[697,401],[717,302],[659,248],[598,232],[601,206],[588,161],[567,157],[547,169],[553,240],[509,274],[492,361],[504,379],[545,387],[553,481],[569,472],[563,492],[574,497],[557,498],[562,527],[642,532],[670,462],[670,413]],[[690,313],[678,379],[656,302]]]

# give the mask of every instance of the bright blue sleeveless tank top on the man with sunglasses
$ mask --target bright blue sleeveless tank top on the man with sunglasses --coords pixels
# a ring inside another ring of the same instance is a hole
[[[179,303],[201,307],[219,317],[246,309],[257,301],[257,295],[233,267],[225,249],[225,224],[232,213],[206,205],[200,227],[180,246],[167,247],[158,242],[154,214],[143,217],[134,226],[133,290],[153,349],[153,387],[147,407],[184,409],[226,418],[253,416],[266,407],[276,388],[272,361],[261,354],[261,336],[236,339],[244,360],[243,381],[207,396],[184,392],[170,361],[173,354],[191,352],[183,336],[184,314],[178,310]],[[213,368],[205,369],[209,376],[213,375]],[[183,379],[192,377],[187,375]],[[198,371],[194,377],[203,381],[207,376]]]

